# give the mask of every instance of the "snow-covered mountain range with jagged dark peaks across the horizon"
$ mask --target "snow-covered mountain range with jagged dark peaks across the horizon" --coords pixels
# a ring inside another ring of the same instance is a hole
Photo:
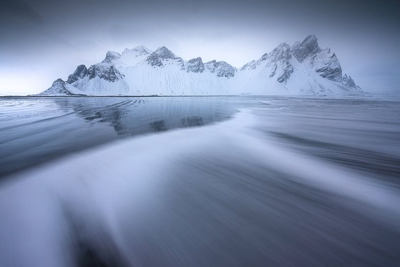
[[[40,95],[287,95],[362,92],[329,48],[315,35],[272,52],[240,69],[225,61],[184,60],[166,47],[108,51],[100,63],[79,65],[66,82],[56,80]]]

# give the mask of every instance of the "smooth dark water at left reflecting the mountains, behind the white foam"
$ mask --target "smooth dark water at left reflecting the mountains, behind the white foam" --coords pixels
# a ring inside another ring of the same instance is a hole
[[[116,139],[222,121],[252,102],[248,97],[0,97],[0,177]]]

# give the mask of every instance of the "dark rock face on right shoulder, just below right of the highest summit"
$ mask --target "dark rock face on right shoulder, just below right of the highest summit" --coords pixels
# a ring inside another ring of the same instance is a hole
[[[342,80],[342,67],[335,53],[330,53],[330,49],[324,49],[311,57],[311,65],[321,77],[332,81]]]

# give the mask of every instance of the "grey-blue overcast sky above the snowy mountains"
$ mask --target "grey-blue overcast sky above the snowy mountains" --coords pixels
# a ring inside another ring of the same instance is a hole
[[[308,34],[365,91],[400,93],[399,14],[387,0],[0,0],[0,94],[39,93],[108,50],[241,67]]]

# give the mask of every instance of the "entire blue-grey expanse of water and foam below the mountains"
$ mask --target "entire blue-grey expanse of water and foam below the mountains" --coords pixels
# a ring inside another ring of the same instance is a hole
[[[400,266],[399,97],[1,101],[0,266]]]

